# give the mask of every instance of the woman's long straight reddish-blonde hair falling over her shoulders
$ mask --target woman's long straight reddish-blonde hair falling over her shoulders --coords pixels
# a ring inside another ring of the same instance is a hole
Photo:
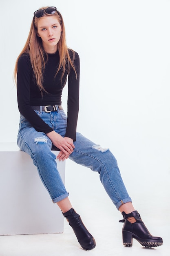
[[[46,8],[48,8],[48,7],[42,7],[40,9],[46,9]],[[61,13],[59,11],[56,11],[54,14],[48,14],[48,13],[44,12],[43,17],[51,16],[51,15],[53,15],[57,18],[57,20],[60,23],[60,26],[62,28],[60,40],[57,43],[57,49],[59,51],[59,56],[60,56],[60,63],[59,63],[58,69],[56,70],[55,76],[57,75],[60,68],[62,68],[63,69],[62,77],[63,77],[64,72],[66,70],[68,70],[68,72],[69,72],[71,67],[75,71],[75,67],[73,64],[74,58],[75,58],[75,53],[73,50],[70,49],[72,51],[72,54],[71,54],[72,57],[71,57],[68,52],[68,47],[66,45],[66,32],[65,32],[64,22],[63,22]],[[42,18],[42,17],[40,17],[40,18]],[[31,65],[32,65],[33,72],[35,75],[35,80],[37,82],[37,85],[38,85],[41,93],[42,93],[43,90],[45,91],[45,89],[43,87],[43,73],[44,73],[44,69],[45,69],[45,63],[48,60],[48,55],[44,51],[41,38],[37,36],[38,20],[40,20],[40,18],[34,17],[32,20],[31,28],[29,31],[29,36],[26,40],[26,44],[25,44],[24,48],[22,49],[22,52],[18,56],[16,63],[15,63],[14,79],[15,79],[15,83],[17,84],[18,60],[19,60],[20,56],[25,53],[29,54],[30,60],[31,60]],[[76,71],[75,71],[75,75],[77,78]],[[61,79],[62,79],[62,77],[61,77]]]

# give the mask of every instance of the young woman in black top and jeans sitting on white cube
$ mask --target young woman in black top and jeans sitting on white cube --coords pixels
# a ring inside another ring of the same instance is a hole
[[[59,160],[69,157],[99,173],[106,192],[124,217],[120,221],[124,222],[124,245],[132,246],[132,238],[145,247],[162,245],[162,238],[152,236],[135,211],[110,150],[76,132],[79,56],[66,46],[63,18],[56,7],[43,7],[34,12],[28,39],[16,61],[15,79],[20,111],[18,146],[33,159],[44,186],[82,248],[93,249],[95,239],[72,208],[51,149],[60,150]],[[67,79],[66,116],[61,95]]]

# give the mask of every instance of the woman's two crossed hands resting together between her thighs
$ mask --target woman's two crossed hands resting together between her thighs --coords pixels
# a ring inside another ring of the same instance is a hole
[[[73,152],[75,146],[73,144],[73,139],[68,137],[62,137],[55,131],[48,132],[46,135],[51,139],[54,146],[59,148],[61,151],[57,156],[57,159],[64,160],[69,157],[69,155]]]

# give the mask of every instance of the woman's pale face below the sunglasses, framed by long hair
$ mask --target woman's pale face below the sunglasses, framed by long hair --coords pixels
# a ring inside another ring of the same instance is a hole
[[[42,39],[42,45],[47,53],[57,51],[62,27],[55,16],[44,16],[38,20],[37,35]]]

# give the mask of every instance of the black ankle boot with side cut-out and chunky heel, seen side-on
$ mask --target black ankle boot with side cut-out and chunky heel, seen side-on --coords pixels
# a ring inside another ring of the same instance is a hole
[[[132,213],[129,214],[123,211],[121,214],[124,216],[124,220],[119,220],[119,222],[124,222],[122,229],[123,245],[132,246],[133,238],[145,247],[157,247],[163,244],[161,237],[152,236],[150,234],[137,211],[132,211]],[[130,223],[130,221],[127,220],[128,217],[134,217],[136,222],[133,224]]]

